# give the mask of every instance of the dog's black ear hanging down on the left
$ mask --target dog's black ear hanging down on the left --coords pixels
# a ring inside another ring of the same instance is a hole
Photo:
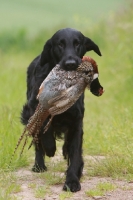
[[[49,39],[44,47],[43,47],[43,51],[41,53],[41,58],[40,58],[40,65],[43,66],[46,63],[48,63],[51,59],[51,48],[52,48],[52,44],[51,44],[51,39]]]

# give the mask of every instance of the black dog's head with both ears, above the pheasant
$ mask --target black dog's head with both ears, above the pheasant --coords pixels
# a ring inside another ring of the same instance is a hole
[[[71,28],[61,29],[44,45],[40,65],[52,62],[54,67],[59,63],[65,70],[74,70],[84,54],[91,50],[101,56],[98,46],[81,32]]]

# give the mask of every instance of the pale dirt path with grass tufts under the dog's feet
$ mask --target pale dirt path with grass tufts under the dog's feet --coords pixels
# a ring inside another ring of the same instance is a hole
[[[20,169],[15,172],[15,175],[18,178],[17,183],[21,185],[21,192],[13,195],[17,197],[18,200],[133,200],[133,183],[113,180],[111,178],[90,178],[85,170],[81,180],[81,191],[77,193],[67,193],[62,191],[64,180],[58,184],[56,183],[48,186],[45,175],[44,177],[41,177],[40,174],[31,172],[30,168]],[[48,172],[46,172],[46,174],[47,173]],[[57,174],[57,176],[65,177],[64,173]],[[87,196],[86,191],[95,189],[99,182],[112,183],[116,186],[116,189],[107,192],[105,196]]]

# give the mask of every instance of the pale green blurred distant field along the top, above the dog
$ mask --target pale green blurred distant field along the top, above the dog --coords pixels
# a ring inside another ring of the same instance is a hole
[[[112,11],[126,6],[125,0],[0,0],[1,30],[26,28],[31,36],[43,29],[72,26],[85,29]]]

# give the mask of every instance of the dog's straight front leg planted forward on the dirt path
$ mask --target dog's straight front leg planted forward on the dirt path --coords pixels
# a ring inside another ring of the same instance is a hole
[[[82,137],[82,119],[80,119],[76,120],[67,136],[66,149],[68,153],[69,166],[63,190],[70,189],[71,192],[77,192],[81,189],[79,180],[84,165],[82,158]]]

